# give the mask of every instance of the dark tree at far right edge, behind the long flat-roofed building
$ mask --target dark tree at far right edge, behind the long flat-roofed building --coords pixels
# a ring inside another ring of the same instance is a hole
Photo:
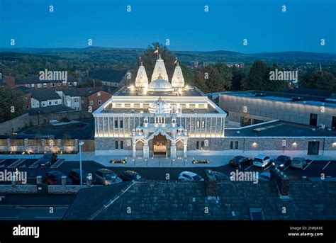
[[[301,87],[336,91],[336,79],[331,72],[314,71],[303,77]]]

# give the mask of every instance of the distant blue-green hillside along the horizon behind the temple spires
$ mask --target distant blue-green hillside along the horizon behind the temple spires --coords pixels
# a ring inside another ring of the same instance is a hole
[[[145,49],[86,47],[86,48],[0,48],[0,52],[22,52],[30,54],[56,55],[62,58],[95,61],[134,63]],[[173,51],[181,62],[246,62],[262,59],[266,62],[336,62],[336,54],[318,52],[262,52],[245,54],[226,50],[208,52]]]

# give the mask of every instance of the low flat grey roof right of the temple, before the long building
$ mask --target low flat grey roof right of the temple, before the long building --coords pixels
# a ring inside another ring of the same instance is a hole
[[[315,130],[313,130],[315,129]],[[239,131],[239,133],[237,133]],[[310,125],[277,121],[241,129],[225,129],[226,137],[333,137],[336,130],[322,130]]]

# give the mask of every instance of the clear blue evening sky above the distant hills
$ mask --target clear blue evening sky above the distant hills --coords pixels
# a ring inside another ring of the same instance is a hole
[[[87,47],[92,38],[94,46],[144,48],[168,38],[171,50],[335,53],[336,1],[0,0],[0,47],[11,38],[15,47]]]

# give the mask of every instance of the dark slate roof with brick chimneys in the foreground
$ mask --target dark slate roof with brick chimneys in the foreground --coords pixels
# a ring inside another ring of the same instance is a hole
[[[250,208],[262,208],[266,220],[336,219],[336,182],[291,181],[287,201],[279,198],[275,181],[220,182],[215,198],[208,198],[205,191],[204,182],[180,181],[87,188],[79,191],[64,219],[250,220]],[[282,213],[282,207],[286,207],[286,213]]]

